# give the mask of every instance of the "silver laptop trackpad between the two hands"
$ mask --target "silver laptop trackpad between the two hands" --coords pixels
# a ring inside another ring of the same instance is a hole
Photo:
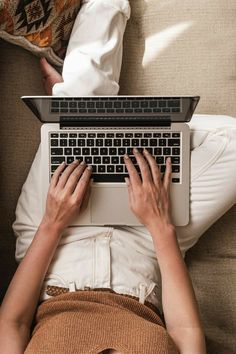
[[[137,224],[137,219],[129,207],[127,188],[93,187],[91,218],[93,224]]]

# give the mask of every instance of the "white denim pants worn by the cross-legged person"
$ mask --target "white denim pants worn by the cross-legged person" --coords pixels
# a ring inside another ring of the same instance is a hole
[[[76,19],[54,95],[111,95],[119,90],[126,0],[86,0]],[[194,115],[191,128],[190,223],[177,227],[182,254],[236,202],[236,119]],[[16,208],[13,229],[21,261],[41,221],[40,146]],[[102,206],[101,206],[102,207]],[[71,227],[63,234],[46,285],[112,288],[161,308],[160,272],[145,227]]]

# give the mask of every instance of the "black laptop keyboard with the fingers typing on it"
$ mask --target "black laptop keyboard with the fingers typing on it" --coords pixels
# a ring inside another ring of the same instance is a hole
[[[50,132],[51,176],[63,161],[68,165],[78,159],[93,167],[94,182],[124,182],[128,176],[124,154],[130,156],[140,173],[133,148],[140,152],[146,148],[155,157],[162,174],[170,156],[172,182],[180,183],[181,133],[169,131]]]

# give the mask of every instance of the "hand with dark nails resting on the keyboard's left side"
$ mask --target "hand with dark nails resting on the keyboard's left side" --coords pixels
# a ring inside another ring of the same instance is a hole
[[[92,167],[75,160],[65,169],[62,163],[54,172],[48,190],[43,224],[62,232],[85,209],[89,199]]]

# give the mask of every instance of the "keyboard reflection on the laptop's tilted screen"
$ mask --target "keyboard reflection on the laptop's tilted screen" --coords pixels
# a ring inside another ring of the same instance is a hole
[[[74,97],[52,98],[51,113],[122,114],[180,113],[178,97]]]

